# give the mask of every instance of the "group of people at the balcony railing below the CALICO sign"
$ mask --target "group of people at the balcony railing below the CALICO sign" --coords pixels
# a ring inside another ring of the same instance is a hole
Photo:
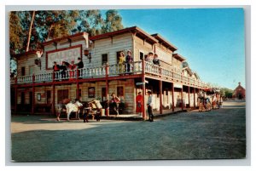
[[[54,66],[53,66],[53,71],[60,71],[61,73],[61,79],[66,79],[67,77],[67,70],[71,70],[69,71],[69,79],[72,80],[74,78],[74,71],[76,68],[81,69],[84,68],[84,63],[81,60],[81,58],[78,58],[79,62],[78,64],[74,64],[74,60],[71,61],[71,64],[69,64],[67,61],[62,61],[61,66],[59,66],[56,62],[54,62]],[[79,75],[80,75],[79,71]],[[58,74],[55,75],[55,77],[57,79],[59,79]]]

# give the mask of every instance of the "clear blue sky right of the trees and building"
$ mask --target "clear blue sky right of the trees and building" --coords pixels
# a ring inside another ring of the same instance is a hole
[[[245,87],[243,9],[120,9],[125,27],[160,33],[201,80]]]

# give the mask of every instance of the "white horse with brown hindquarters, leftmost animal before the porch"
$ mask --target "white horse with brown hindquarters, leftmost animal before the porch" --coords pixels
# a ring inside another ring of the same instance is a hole
[[[65,110],[66,106],[66,110]],[[61,116],[61,111],[66,111],[67,112],[67,121],[69,121],[70,114],[72,112],[76,113],[76,118],[79,118],[79,112],[80,109],[83,107],[83,104],[79,102],[79,100],[76,100],[75,103],[72,103],[71,101],[67,103],[67,105],[64,104],[58,104],[57,105],[57,121],[60,121],[60,116]],[[79,118],[80,119],[80,118]]]

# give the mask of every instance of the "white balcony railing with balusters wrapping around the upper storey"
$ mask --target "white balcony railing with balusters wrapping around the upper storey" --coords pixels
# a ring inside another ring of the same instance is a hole
[[[149,74],[153,77],[164,77],[175,82],[188,83],[202,88],[207,87],[205,83],[195,80],[192,77],[185,77],[181,73],[168,70],[164,67],[155,66],[147,61],[145,61],[144,67],[144,73],[146,75]],[[67,71],[48,71],[35,75],[20,76],[16,77],[16,79],[12,78],[10,83],[45,83],[61,80],[76,80],[77,78],[106,77],[107,75],[108,77],[114,77],[125,74],[141,73],[143,73],[143,61],[135,61],[129,64],[113,64],[109,66],[82,68]]]

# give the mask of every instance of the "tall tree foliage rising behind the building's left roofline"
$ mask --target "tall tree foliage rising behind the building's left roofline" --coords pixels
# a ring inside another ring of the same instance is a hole
[[[100,10],[39,10],[35,11],[34,19],[32,14],[31,11],[9,14],[10,54],[25,52],[28,43],[29,49],[37,49],[44,41],[82,31],[95,36],[123,28],[122,17],[113,9],[106,12],[106,19]]]

